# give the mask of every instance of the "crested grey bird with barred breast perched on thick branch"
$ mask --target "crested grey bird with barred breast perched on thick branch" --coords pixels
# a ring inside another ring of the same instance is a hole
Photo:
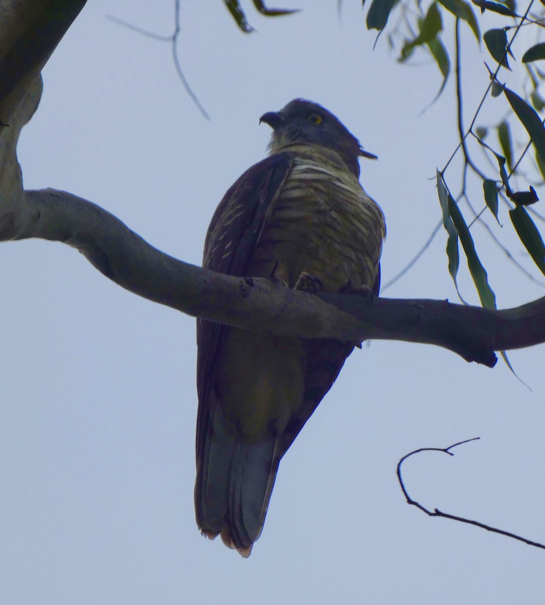
[[[309,100],[294,99],[263,114],[262,122],[272,128],[269,155],[218,205],[203,267],[269,276],[290,288],[310,276],[323,292],[378,295],[385,218],[359,183],[358,161],[376,155]],[[201,534],[220,535],[249,557],[279,462],[353,348],[197,319],[195,516]]]

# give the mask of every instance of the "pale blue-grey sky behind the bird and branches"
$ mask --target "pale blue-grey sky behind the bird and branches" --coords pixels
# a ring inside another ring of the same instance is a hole
[[[168,34],[171,2],[89,2],[45,67],[22,133],[25,186],[85,197],[200,263],[218,201],[266,153],[259,116],[307,97],[379,155],[362,162],[361,181],[387,218],[388,281],[439,220],[429,178],[455,146],[454,82],[419,117],[437,68],[424,57],[397,64],[385,37],[373,51],[355,0],[341,21],[333,0],[275,3],[304,9],[282,19],[246,2],[251,35],[221,2],[182,4],[181,62],[212,120],[184,93],[168,44],[106,19]],[[469,31],[465,43],[475,48]],[[473,59],[466,73],[469,116],[486,71]],[[505,110],[494,102],[490,122]],[[455,166],[447,177],[455,189]],[[498,232],[531,267],[501,212]],[[498,306],[543,295],[473,232]],[[440,232],[387,295],[456,301],[444,249]],[[477,302],[465,262],[460,273]],[[411,495],[545,542],[543,346],[510,355],[531,393],[503,362],[489,370],[397,342],[356,351],[282,460],[243,560],[195,525],[194,319],[126,292],[58,243],[2,244],[0,281],[1,603],[543,603],[545,552],[426,517],[395,474],[411,450],[480,436],[454,458],[406,463]]]

